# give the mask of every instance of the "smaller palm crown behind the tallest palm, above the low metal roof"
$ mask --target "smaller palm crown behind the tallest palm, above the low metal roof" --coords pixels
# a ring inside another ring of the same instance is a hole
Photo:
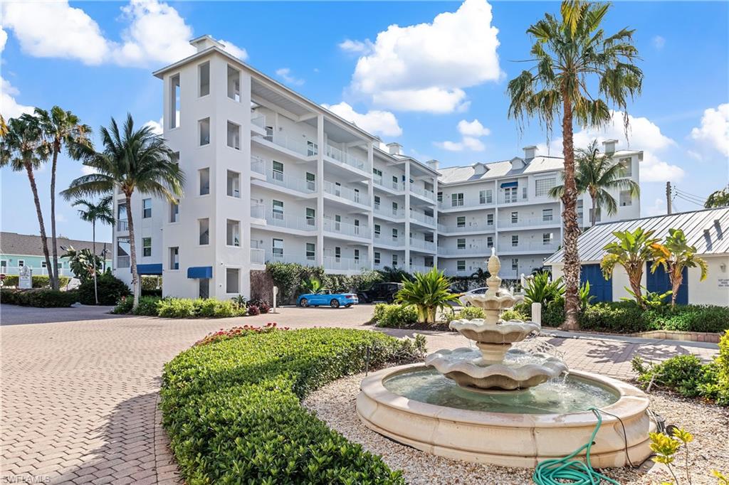
[[[577,192],[590,194],[592,200],[592,215],[590,226],[597,221],[599,208],[606,208],[612,216],[617,212],[617,201],[612,197],[610,189],[625,189],[630,191],[631,197],[640,195],[640,186],[630,178],[623,177],[623,166],[615,163],[612,156],[601,155],[597,140],[593,140],[586,149],[577,149],[575,153],[577,173],[574,175]],[[550,190],[550,197],[555,199],[564,195],[564,185],[558,185]]]

